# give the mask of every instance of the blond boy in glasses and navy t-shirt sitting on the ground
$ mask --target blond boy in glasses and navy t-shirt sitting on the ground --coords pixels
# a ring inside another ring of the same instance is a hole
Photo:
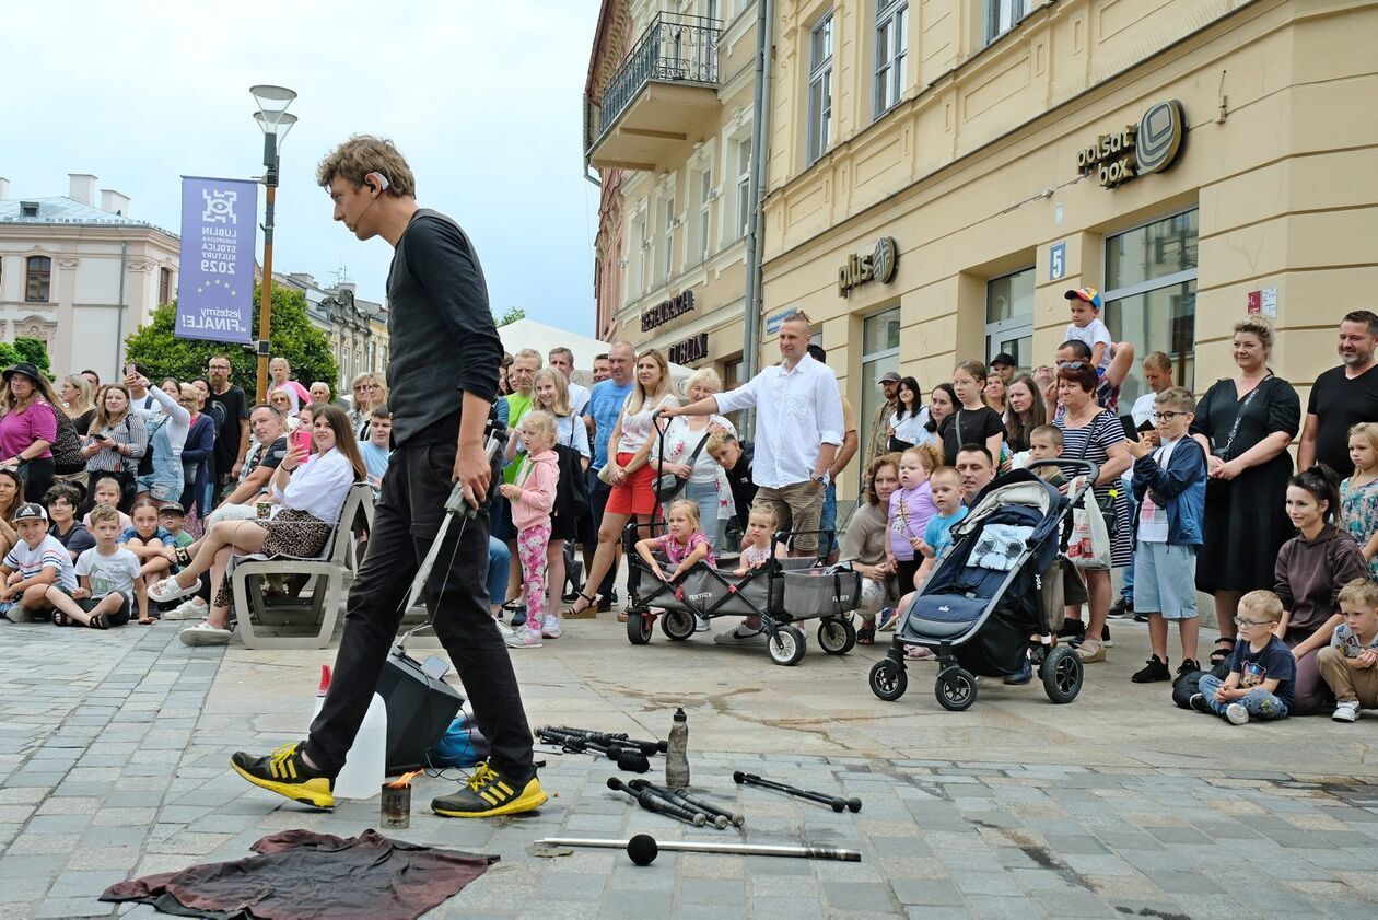
[[[1239,599],[1239,640],[1229,657],[1229,676],[1202,674],[1200,692],[1191,706],[1221,716],[1232,726],[1250,719],[1286,719],[1293,705],[1297,659],[1273,634],[1283,617],[1283,601],[1271,590],[1251,590]]]

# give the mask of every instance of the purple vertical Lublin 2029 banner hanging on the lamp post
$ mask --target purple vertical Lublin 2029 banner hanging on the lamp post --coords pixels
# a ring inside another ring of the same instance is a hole
[[[182,177],[178,338],[254,339],[258,183]]]

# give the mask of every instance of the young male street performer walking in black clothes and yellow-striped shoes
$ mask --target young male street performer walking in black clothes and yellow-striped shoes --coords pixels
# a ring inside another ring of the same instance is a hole
[[[390,141],[356,135],[321,161],[316,178],[331,194],[336,221],[357,239],[382,236],[394,250],[387,276],[394,450],[368,554],[350,589],[335,679],[310,737],[262,757],[237,753],[232,766],[256,786],[331,808],[333,778],[378,687],[408,585],[440,530],[453,483],[463,483],[475,506],[488,495],[484,425],[503,346],[473,244],[448,217],[416,206],[411,167]],[[492,750],[467,785],[431,801],[452,818],[515,814],[546,801],[517,677],[488,610],[486,571],[488,514],[481,513],[451,526],[426,583],[435,634]]]

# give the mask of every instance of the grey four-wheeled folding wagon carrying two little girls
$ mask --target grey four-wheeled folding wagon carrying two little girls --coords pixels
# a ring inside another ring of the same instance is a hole
[[[823,557],[774,559],[776,545],[788,545],[796,532],[774,534],[772,559],[745,575],[697,563],[667,582],[656,577],[635,549],[639,531],[659,537],[664,530],[663,521],[631,523],[623,530],[623,549],[631,570],[627,641],[633,646],[650,641],[657,617],[661,632],[674,641],[695,636],[697,617],[759,617],[766,654],[777,665],[795,665],[803,658],[806,640],[796,623],[806,619],[820,621],[819,646],[830,655],[845,655],[856,646],[852,612],[861,604],[861,575],[846,564],[827,566]],[[820,534],[820,549],[831,543],[831,531],[809,532]],[[657,554],[656,561],[661,571],[672,570],[663,556]]]

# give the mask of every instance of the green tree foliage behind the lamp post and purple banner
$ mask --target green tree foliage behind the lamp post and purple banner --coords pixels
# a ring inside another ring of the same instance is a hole
[[[259,286],[254,286],[254,328],[258,328]],[[172,335],[176,321],[176,301],[164,303],[153,313],[153,320],[124,339],[125,357],[149,368],[154,381],[175,377],[189,381],[205,377],[205,364],[212,354],[227,354],[233,367],[232,381],[251,396],[258,381],[258,357],[243,345],[203,342]],[[282,356],[292,366],[292,377],[309,386],[325,381],[335,386],[339,366],[325,332],[311,326],[306,317],[306,297],[292,288],[273,288],[273,356]]]

